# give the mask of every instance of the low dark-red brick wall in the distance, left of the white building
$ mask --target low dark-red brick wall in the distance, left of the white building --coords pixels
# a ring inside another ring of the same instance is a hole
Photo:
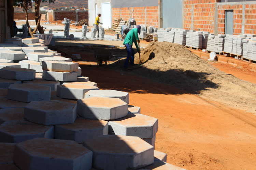
[[[64,18],[76,21],[76,12],[75,11],[54,11],[54,20],[64,20]],[[79,11],[78,20],[88,19],[88,11]]]

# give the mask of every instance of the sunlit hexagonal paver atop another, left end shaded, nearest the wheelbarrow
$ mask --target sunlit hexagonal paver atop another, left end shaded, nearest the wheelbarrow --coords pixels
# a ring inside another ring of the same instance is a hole
[[[76,72],[78,71],[79,63],[73,62],[57,62],[57,61],[43,61],[42,68],[46,71],[58,72]]]

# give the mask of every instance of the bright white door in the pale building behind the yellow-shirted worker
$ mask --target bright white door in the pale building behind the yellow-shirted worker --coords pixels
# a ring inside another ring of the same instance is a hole
[[[111,4],[110,2],[101,3],[101,22],[105,29],[111,28]]]

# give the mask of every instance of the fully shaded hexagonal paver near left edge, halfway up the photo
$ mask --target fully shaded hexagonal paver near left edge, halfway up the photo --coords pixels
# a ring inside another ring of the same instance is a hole
[[[38,84],[11,84],[8,88],[7,99],[27,103],[51,100],[51,87]]]

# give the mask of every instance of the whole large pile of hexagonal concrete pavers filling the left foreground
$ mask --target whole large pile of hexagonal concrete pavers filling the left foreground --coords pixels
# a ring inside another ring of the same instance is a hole
[[[47,47],[3,49],[0,169],[182,170],[154,150],[158,119],[128,105],[127,92],[99,90]]]

